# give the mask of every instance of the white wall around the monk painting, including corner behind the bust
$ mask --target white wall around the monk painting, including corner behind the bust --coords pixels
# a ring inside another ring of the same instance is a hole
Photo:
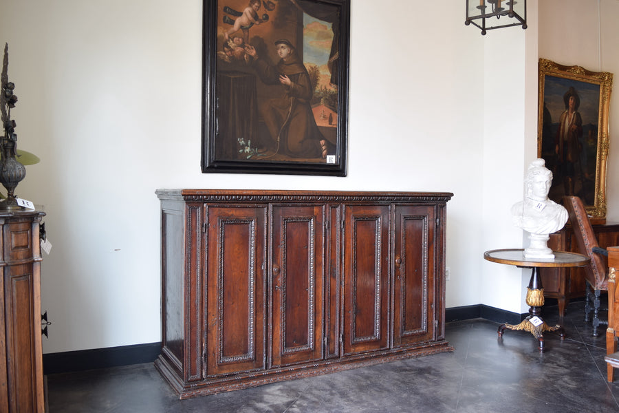
[[[44,352],[160,340],[157,188],[452,191],[447,306],[522,310],[528,275],[482,254],[521,246],[537,1],[528,30],[486,36],[464,5],[398,25],[417,2],[351,3],[349,168],[332,178],[200,172],[201,0],[0,0],[19,148],[41,158],[17,193],[45,205],[54,244]]]

